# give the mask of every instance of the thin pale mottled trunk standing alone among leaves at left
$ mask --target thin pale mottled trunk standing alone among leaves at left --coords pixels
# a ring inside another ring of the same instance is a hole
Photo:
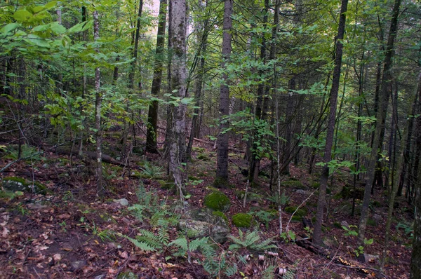
[[[98,41],[100,39],[100,20],[98,20],[98,11],[93,12],[93,39]],[[99,53],[100,49],[96,51]],[[102,95],[100,92],[100,67],[95,68],[95,141],[96,141],[96,179],[98,195],[102,196],[104,193],[104,186],[102,185],[102,130],[101,130],[101,101]]]

